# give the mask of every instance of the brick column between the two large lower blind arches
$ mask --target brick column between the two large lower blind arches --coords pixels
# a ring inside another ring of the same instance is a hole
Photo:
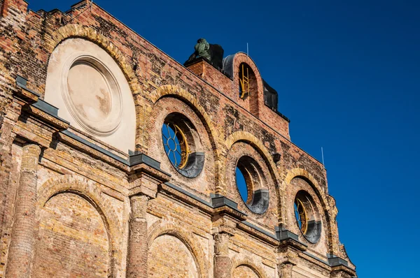
[[[147,277],[147,205],[148,196],[137,195],[130,198],[130,239],[128,242],[127,278]]]

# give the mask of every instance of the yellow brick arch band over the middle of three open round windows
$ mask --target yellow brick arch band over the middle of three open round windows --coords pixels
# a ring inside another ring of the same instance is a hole
[[[255,136],[253,136],[253,134],[248,133],[246,131],[236,131],[232,134],[230,134],[230,136],[228,136],[228,138],[226,138],[225,140],[225,150],[226,152],[229,152],[229,149],[232,147],[232,145],[234,145],[236,142],[246,142],[247,144],[251,145],[262,157],[262,159],[264,159],[267,168],[269,169],[269,175],[271,176],[273,182],[274,182],[274,190],[276,192],[276,197],[277,197],[277,217],[279,219],[279,221],[281,222],[282,220],[282,215],[283,215],[283,192],[281,189],[281,186],[279,186],[280,183],[280,175],[279,175],[279,170],[277,170],[276,167],[276,163],[274,163],[273,159],[272,159],[272,155],[269,153],[268,149],[262,145],[262,142],[260,142],[260,140],[258,138],[256,138]],[[224,165],[226,165],[227,161],[224,161]],[[223,172],[222,173],[222,177],[225,177],[226,173]],[[216,193],[221,193],[221,194],[225,194],[225,191],[227,190],[226,187],[224,187],[223,189],[221,189],[221,191],[216,192]]]

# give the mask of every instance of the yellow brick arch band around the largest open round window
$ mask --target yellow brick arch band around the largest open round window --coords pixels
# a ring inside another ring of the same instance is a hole
[[[200,122],[203,124],[204,128],[207,131],[207,135],[209,136],[209,140],[211,143],[211,149],[213,151],[213,156],[214,156],[214,168],[215,168],[215,183],[216,183],[216,191],[217,188],[220,187],[220,183],[221,180],[218,179],[219,177],[219,173],[221,173],[221,161],[220,161],[220,147],[219,147],[219,134],[217,129],[215,128],[214,124],[213,124],[213,120],[210,118],[210,116],[207,114],[206,110],[204,110],[204,108],[202,107],[202,105],[200,105],[200,103],[198,103],[197,98],[195,98],[195,96],[193,96],[192,94],[190,94],[189,92],[187,92],[185,89],[182,89],[181,87],[177,86],[177,85],[163,85],[161,87],[158,87],[158,89],[155,89],[155,91],[153,91],[148,98],[151,100],[151,102],[153,103],[153,106],[151,107],[150,110],[148,110],[147,116],[146,116],[146,131],[148,130],[148,128],[151,127],[151,122],[153,122],[153,107],[156,103],[158,103],[158,101],[160,101],[160,99],[163,98],[176,98],[179,99],[180,101],[182,101],[183,103],[186,103],[186,105],[188,105],[193,112],[195,112],[195,115],[197,115],[197,117],[200,119]],[[155,113],[158,111],[155,111]],[[142,136],[146,136],[146,131],[144,132],[144,134]],[[149,143],[152,141],[150,140],[151,138],[148,138],[149,140],[142,140],[144,141],[144,147],[145,149],[148,149],[149,147]],[[209,155],[209,154],[207,154]]]

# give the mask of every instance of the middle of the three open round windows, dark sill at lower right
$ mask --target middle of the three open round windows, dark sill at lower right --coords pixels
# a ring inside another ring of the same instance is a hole
[[[255,214],[263,214],[269,205],[269,191],[262,188],[262,169],[250,156],[242,156],[235,169],[236,184],[246,207]]]

